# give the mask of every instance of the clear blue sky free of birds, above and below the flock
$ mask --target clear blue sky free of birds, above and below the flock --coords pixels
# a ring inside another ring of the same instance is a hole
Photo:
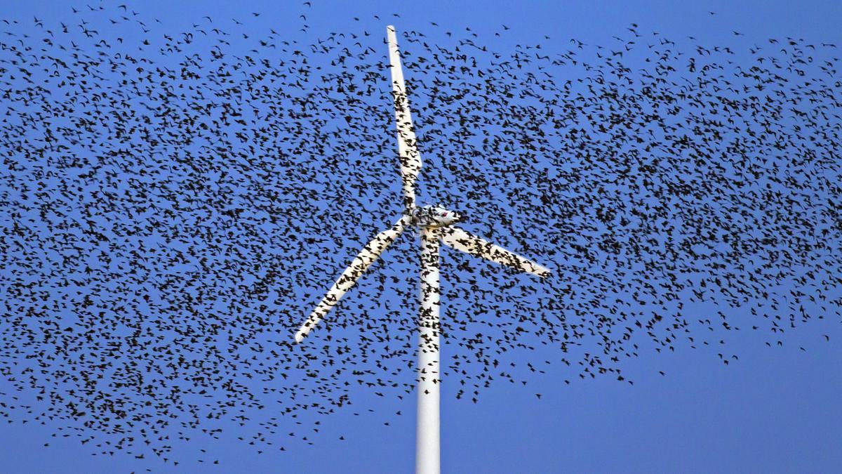
[[[94,3],[92,3],[94,4]],[[255,28],[302,38],[298,15],[311,30],[304,40],[341,28],[359,17],[361,30],[384,34],[430,28],[472,30],[488,36],[511,28],[512,42],[568,47],[569,38],[610,44],[632,22],[642,31],[679,38],[693,35],[702,44],[740,45],[794,36],[842,44],[842,3],[793,2],[413,2],[325,3],[312,7],[278,2],[161,2],[129,4],[140,18],[161,20],[154,30],[189,29],[204,15],[239,18],[261,13]],[[84,8],[78,3],[77,8]],[[710,11],[715,12],[711,15]],[[400,18],[392,17],[397,12]],[[372,15],[378,14],[378,21]],[[4,2],[0,18],[51,24],[70,19],[64,2]],[[732,30],[745,36],[735,38]],[[262,32],[262,30],[261,30]],[[543,40],[544,35],[551,40]],[[384,50],[385,58],[385,50]],[[408,72],[411,75],[412,72]],[[396,167],[397,173],[397,167]],[[699,312],[716,309],[696,307]],[[446,302],[444,313],[446,317]],[[783,347],[766,347],[763,337],[743,332],[729,341],[738,362],[723,365],[715,349],[658,354],[644,350],[626,364],[634,385],[608,378],[563,384],[561,367],[530,380],[528,387],[493,385],[477,405],[456,401],[456,387],[445,380],[442,396],[442,465],[445,472],[834,472],[842,471],[842,331],[839,320],[813,320],[787,334]],[[823,334],[830,335],[825,342]],[[806,350],[801,350],[804,347]],[[544,351],[542,353],[541,351]],[[549,349],[524,352],[528,360],[551,358]],[[447,357],[444,353],[443,357]],[[663,370],[665,375],[658,374]],[[535,394],[543,394],[541,400]],[[391,401],[360,392],[363,412],[328,417],[315,445],[292,444],[286,452],[258,455],[237,439],[197,440],[177,445],[177,471],[249,472],[408,472],[413,470],[414,397]],[[383,405],[386,404],[386,407]],[[365,415],[365,407],[379,407]],[[402,417],[384,417],[401,410]],[[385,426],[383,423],[390,423]],[[121,472],[169,471],[158,461],[136,461],[118,453],[90,455],[75,438],[51,438],[50,427],[21,424],[0,428],[0,471]],[[339,434],[344,440],[339,440]],[[285,436],[283,430],[279,438]],[[49,442],[49,447],[44,443]],[[184,455],[205,449],[203,459]]]

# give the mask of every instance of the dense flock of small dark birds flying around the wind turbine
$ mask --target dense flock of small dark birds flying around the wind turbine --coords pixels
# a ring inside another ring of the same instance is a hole
[[[124,6],[66,18],[0,33],[10,421],[51,423],[96,454],[172,458],[176,438],[225,426],[273,449],[312,442],[304,414],[345,407],[354,387],[413,391],[417,232],[292,341],[402,212],[389,21],[419,201],[553,272],[442,250],[443,378],[460,398],[551,362],[520,367],[520,351],[555,354],[568,380],[630,381],[623,362],[643,348],[710,344],[727,363],[723,331],[775,346],[839,317],[834,45],[706,46],[632,24],[607,46],[502,53],[503,26],[349,21],[308,42],[245,18],[163,34]]]

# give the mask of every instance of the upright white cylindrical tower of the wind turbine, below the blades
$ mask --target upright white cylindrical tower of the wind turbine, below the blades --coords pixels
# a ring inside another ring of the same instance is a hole
[[[418,313],[418,418],[415,472],[440,472],[439,229],[421,231],[421,310]]]

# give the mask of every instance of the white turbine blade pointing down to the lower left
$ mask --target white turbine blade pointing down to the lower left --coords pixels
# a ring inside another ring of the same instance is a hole
[[[374,239],[365,245],[363,250],[360,250],[360,254],[357,255],[354,258],[354,261],[351,262],[351,265],[342,272],[342,275],[338,277],[336,282],[333,283],[333,286],[328,290],[328,294],[324,295],[324,298],[322,298],[322,301],[317,304],[316,309],[313,310],[310,317],[307,318],[304,324],[301,325],[301,328],[296,331],[296,342],[301,342],[304,339],[307,333],[318,324],[318,321],[322,320],[324,315],[328,314],[328,311],[338,303],[339,299],[341,299],[342,296],[351,289],[351,287],[354,286],[354,283],[357,283],[360,276],[362,276],[371,264],[377,260],[377,257],[379,257],[389,245],[392,245],[392,242],[394,242],[397,239],[397,236],[402,233],[407,221],[407,217],[401,218],[395,225],[392,226],[391,229],[386,229],[380,234],[375,235]]]

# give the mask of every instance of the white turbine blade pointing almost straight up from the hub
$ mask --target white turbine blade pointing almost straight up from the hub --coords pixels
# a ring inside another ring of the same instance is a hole
[[[395,100],[395,121],[397,123],[397,152],[401,160],[403,179],[403,203],[406,207],[415,207],[415,180],[421,172],[421,155],[416,148],[413,119],[409,114],[409,100],[406,84],[403,82],[401,53],[397,49],[395,27],[386,27],[389,38],[389,65],[392,69],[392,94]]]

